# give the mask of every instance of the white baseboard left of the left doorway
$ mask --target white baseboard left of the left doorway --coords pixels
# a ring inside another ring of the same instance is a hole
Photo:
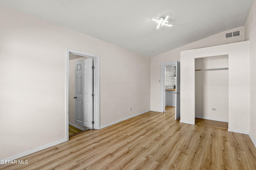
[[[38,151],[40,151],[40,150],[53,147],[53,146],[58,145],[58,144],[63,143],[63,142],[66,142],[66,139],[62,139],[62,140],[60,140],[60,141],[56,141],[56,142],[50,143],[50,144],[48,144],[48,145],[44,145],[44,146],[39,147],[39,148],[36,148],[36,149],[28,150],[28,151],[26,151],[26,152],[23,152],[23,153],[20,153],[20,154],[17,154],[17,155],[14,155],[14,156],[11,156],[11,157],[9,157],[9,158],[2,159],[2,160],[15,160],[15,159],[21,158],[21,157],[23,157],[23,156],[27,156],[27,155],[29,155],[29,154],[32,154],[32,153],[34,153],[34,152],[38,152]],[[0,162],[0,164],[1,164],[1,162]]]

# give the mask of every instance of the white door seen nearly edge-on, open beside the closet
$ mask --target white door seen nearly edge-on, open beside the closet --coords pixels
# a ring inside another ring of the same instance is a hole
[[[175,120],[180,118],[180,62],[176,61],[176,106]]]

